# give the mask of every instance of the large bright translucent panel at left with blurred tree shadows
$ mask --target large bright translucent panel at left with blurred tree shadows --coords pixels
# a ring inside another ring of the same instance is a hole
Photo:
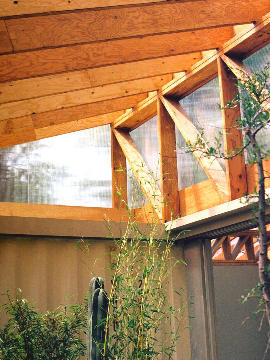
[[[0,200],[111,207],[110,126],[0,150]]]

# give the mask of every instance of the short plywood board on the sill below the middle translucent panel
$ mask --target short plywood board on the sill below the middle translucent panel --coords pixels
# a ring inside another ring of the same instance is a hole
[[[179,191],[181,217],[223,204],[210,180],[189,186]]]

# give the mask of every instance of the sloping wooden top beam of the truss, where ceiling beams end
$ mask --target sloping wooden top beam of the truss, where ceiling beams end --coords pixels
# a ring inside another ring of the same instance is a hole
[[[156,96],[144,100],[138,104],[132,112],[116,120],[115,127],[139,126],[144,122],[145,114],[150,114],[147,107],[154,109],[157,98],[163,95],[183,98],[198,87],[218,75],[217,58],[222,54],[233,54],[241,59],[246,58],[252,51],[259,50],[270,42],[270,13],[263,16],[255,24],[248,25],[246,29],[221,46],[219,50],[213,50],[209,55],[194,64],[185,74],[180,75],[162,87]],[[157,111],[153,113],[156,115]]]

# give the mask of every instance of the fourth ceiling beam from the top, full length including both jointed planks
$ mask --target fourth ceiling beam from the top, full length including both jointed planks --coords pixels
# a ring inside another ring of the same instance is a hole
[[[199,60],[201,60],[200,53],[190,53],[2,82],[0,103],[183,72]]]

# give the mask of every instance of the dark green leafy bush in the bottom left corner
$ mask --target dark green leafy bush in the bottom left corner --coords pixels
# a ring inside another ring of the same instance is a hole
[[[5,360],[77,360],[85,355],[81,339],[86,328],[86,305],[62,305],[46,314],[23,297],[9,293],[4,309],[9,320],[0,329],[0,358]]]

